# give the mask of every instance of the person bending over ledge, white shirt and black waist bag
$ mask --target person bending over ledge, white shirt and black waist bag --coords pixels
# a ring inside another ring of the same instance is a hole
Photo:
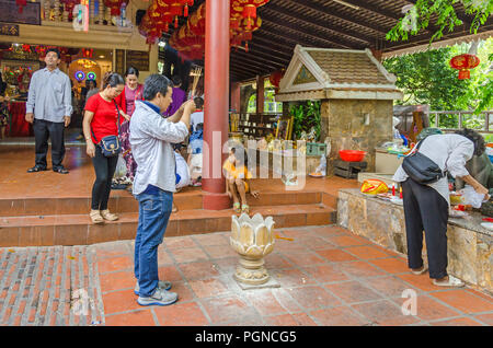
[[[425,274],[429,268],[429,278],[435,286],[465,286],[460,279],[447,274],[447,221],[450,206],[447,172],[452,177],[463,179],[488,199],[488,189],[466,169],[466,162],[484,150],[483,137],[471,129],[428,136],[413,149],[393,175],[393,181],[402,186],[408,265],[415,275]],[[423,231],[428,268],[422,258]]]

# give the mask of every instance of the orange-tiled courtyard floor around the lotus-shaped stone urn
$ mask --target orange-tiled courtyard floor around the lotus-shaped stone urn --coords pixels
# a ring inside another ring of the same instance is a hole
[[[136,303],[133,241],[0,248],[1,325],[493,325],[493,298],[414,276],[405,257],[339,227],[283,229],[266,257],[277,289],[242,291],[229,233],[165,237],[160,277],[179,302]],[[404,290],[415,315],[404,315]],[[409,290],[408,290],[409,291]],[[89,299],[89,300],[88,300]],[[84,305],[87,304],[87,305]]]

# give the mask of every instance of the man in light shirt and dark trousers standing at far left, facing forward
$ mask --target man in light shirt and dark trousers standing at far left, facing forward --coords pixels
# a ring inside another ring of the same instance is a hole
[[[48,138],[51,139],[53,171],[67,174],[61,162],[65,156],[64,128],[70,124],[72,94],[69,77],[58,69],[60,53],[49,48],[46,68],[33,73],[27,94],[25,120],[33,124],[35,165],[27,173],[46,171]]]

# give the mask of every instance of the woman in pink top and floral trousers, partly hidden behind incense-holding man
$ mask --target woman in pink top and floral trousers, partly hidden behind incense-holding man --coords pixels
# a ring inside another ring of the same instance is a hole
[[[125,89],[122,93],[125,100],[126,114],[131,117],[135,111],[135,101],[142,100],[144,85],[139,83],[139,70],[134,67],[129,67],[125,73]],[[130,121],[125,120],[122,124],[122,131],[119,134],[119,139],[122,143],[123,158],[127,164],[126,177],[134,182],[135,172],[137,170],[137,164],[135,163],[134,156],[131,154],[130,141],[129,141],[129,126]]]

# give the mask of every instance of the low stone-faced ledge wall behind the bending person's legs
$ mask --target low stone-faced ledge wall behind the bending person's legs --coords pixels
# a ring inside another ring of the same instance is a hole
[[[493,293],[493,234],[480,222],[478,214],[469,220],[449,219],[447,271]],[[342,189],[337,199],[337,224],[386,248],[408,254],[402,206],[366,196],[358,189]],[[423,258],[426,260],[426,245]]]

